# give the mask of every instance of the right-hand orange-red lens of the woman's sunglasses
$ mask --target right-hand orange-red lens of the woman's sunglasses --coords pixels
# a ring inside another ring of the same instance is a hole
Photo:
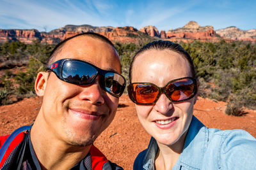
[[[177,80],[166,86],[166,94],[172,101],[184,101],[195,94],[195,85],[193,80],[185,78]]]

